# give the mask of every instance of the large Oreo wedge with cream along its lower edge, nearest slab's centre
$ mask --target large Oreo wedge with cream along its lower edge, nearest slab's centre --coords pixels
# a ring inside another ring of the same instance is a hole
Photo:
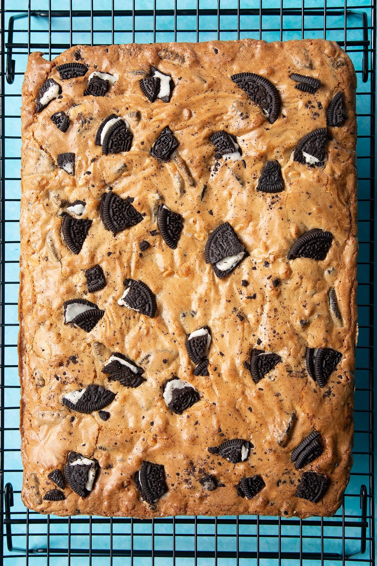
[[[244,246],[228,222],[215,228],[209,235],[204,250],[206,263],[212,265],[219,279],[229,275],[246,255]]]

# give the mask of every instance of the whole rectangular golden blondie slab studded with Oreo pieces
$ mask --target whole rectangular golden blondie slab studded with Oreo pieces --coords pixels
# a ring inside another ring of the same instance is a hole
[[[352,465],[356,76],[333,42],[32,53],[22,499],[307,517]]]

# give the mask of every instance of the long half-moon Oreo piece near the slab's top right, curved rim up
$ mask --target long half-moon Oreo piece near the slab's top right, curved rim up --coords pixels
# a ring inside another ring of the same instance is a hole
[[[232,75],[231,79],[263,110],[268,122],[273,124],[280,112],[279,94],[274,85],[265,77],[253,72],[241,72]]]

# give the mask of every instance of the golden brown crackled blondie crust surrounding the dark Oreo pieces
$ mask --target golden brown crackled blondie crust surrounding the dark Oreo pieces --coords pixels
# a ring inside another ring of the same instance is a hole
[[[77,50],[81,62],[89,65],[88,73],[60,80],[55,67],[74,61]],[[141,93],[139,80],[150,65],[175,82],[168,104],[151,103]],[[105,97],[83,96],[95,68],[119,74]],[[276,86],[281,109],[274,124],[232,82],[230,76],[238,72],[255,72]],[[292,72],[315,76],[322,86],[314,94],[300,92],[289,79]],[[62,85],[62,98],[36,114],[38,90],[47,78]],[[294,162],[302,136],[326,127],[327,106],[339,90],[347,118],[344,126],[328,128],[326,166]],[[328,516],[339,508],[352,465],[357,336],[355,90],[350,59],[335,43],[322,40],[80,46],[51,62],[40,53],[30,55],[21,109],[19,299],[21,496],[27,507],[62,516],[141,518]],[[71,120],[66,133],[50,121],[60,110]],[[111,113],[129,122],[132,147],[128,153],[102,156],[94,139]],[[167,125],[180,145],[175,157],[159,164],[149,149]],[[245,168],[240,160],[220,160],[214,166],[209,136],[222,129],[237,137]],[[57,168],[57,155],[63,152],[76,154],[73,177]],[[273,159],[281,164],[284,191],[257,192],[262,167]],[[144,215],[140,224],[115,237],[105,230],[98,212],[109,186],[116,195],[135,198],[135,208]],[[76,199],[86,202],[85,216],[93,221],[79,255],[60,237],[59,214]],[[176,250],[161,235],[150,234],[157,229],[160,203],[184,218]],[[249,256],[219,280],[205,264],[203,251],[211,231],[224,221],[233,226]],[[326,259],[288,261],[292,243],[312,228],[333,234]],[[150,247],[141,254],[138,243],[143,239]],[[106,286],[88,293],[84,270],[95,264],[101,265]],[[118,305],[125,277],[149,285],[157,298],[154,319]],[[276,287],[275,278],[280,280]],[[329,312],[332,287],[343,326]],[[89,333],[63,324],[63,301],[77,297],[105,310]],[[206,324],[212,335],[210,376],[196,377],[184,342],[187,334]],[[343,354],[322,389],[305,370],[307,345]],[[244,366],[255,347],[283,358],[258,384]],[[107,379],[101,370],[112,351],[144,368],[144,384],[131,389]],[[182,415],[171,413],[162,398],[162,384],[175,375],[202,394]],[[68,391],[90,383],[116,393],[106,408],[111,415],[106,422],[98,413],[77,413],[60,402]],[[283,448],[279,435],[292,413],[297,423]],[[312,429],[322,435],[324,452],[297,471],[291,452]],[[228,438],[252,441],[248,460],[233,465],[207,452]],[[93,491],[82,499],[66,487],[65,500],[44,501],[53,488],[47,475],[62,470],[72,450],[97,458],[100,469]],[[165,467],[168,491],[155,510],[140,500],[133,482],[142,460]],[[330,478],[318,503],[294,497],[307,470]],[[199,479],[208,473],[225,487],[203,490]],[[250,500],[240,498],[233,486],[255,474],[262,475],[266,487]]]

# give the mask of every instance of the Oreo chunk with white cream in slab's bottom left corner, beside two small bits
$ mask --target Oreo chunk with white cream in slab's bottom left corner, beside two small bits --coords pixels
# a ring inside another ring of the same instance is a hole
[[[93,489],[98,469],[97,460],[91,460],[78,452],[68,454],[64,474],[69,486],[77,495],[86,498]]]

